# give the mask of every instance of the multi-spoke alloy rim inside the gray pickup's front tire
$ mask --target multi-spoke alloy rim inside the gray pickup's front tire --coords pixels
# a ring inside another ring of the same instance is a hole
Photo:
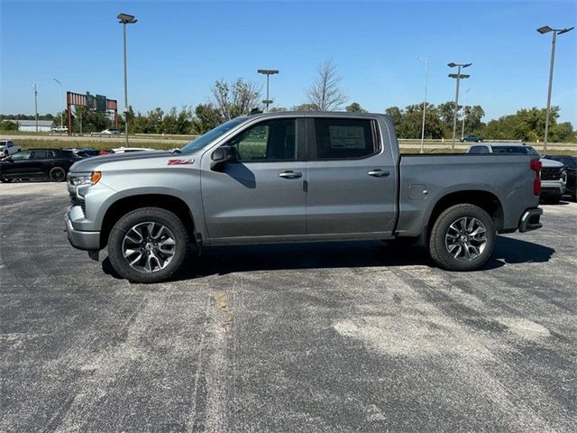
[[[124,259],[138,272],[164,269],[174,257],[175,249],[174,235],[159,223],[137,224],[124,235]]]

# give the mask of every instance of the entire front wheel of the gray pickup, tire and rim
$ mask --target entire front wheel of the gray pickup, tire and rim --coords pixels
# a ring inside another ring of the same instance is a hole
[[[114,270],[131,282],[158,282],[176,272],[187,255],[188,233],[166,209],[142,207],[120,218],[108,237]]]

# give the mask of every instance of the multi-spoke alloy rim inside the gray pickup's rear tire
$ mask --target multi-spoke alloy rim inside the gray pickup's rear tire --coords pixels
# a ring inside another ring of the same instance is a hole
[[[474,217],[461,217],[447,228],[444,246],[460,262],[471,262],[487,245],[487,229]]]

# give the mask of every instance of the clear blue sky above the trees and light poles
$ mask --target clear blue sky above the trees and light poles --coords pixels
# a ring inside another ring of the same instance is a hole
[[[36,1],[0,0],[0,113],[60,111],[64,91],[105,95],[124,106],[122,25],[127,27],[129,104],[206,103],[218,78],[270,78],[273,106],[307,102],[318,65],[333,59],[353,101],[382,113],[388,106],[454,99],[447,63],[472,62],[461,99],[481,105],[484,120],[545,107],[551,33],[571,27],[577,1]],[[467,92],[467,89],[469,91]],[[263,95],[264,97],[264,95]],[[577,125],[577,29],[560,35],[552,105]]]

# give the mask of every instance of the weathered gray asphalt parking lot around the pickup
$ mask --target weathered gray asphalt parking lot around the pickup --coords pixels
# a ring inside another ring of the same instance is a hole
[[[0,200],[0,431],[577,429],[576,203],[479,272],[292,244],[139,285],[69,246],[64,184]]]

